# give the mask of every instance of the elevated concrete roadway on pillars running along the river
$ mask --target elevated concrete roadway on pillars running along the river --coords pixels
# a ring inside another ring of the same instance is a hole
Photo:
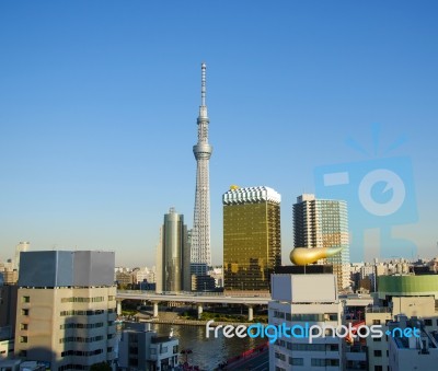
[[[158,317],[158,304],[160,302],[180,302],[196,304],[198,309],[198,318],[203,314],[203,304],[244,304],[247,306],[247,320],[253,321],[254,305],[267,305],[270,301],[270,295],[264,294],[237,294],[228,295],[223,293],[211,292],[182,292],[182,293],[155,293],[150,291],[136,291],[136,290],[118,290],[117,300],[117,314],[122,314],[122,301],[124,300],[139,300],[142,302],[151,302],[153,305],[153,316]]]

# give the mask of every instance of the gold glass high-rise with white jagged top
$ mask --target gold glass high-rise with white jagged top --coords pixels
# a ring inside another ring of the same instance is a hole
[[[281,196],[268,187],[231,187],[223,194],[223,287],[269,291],[281,263]]]

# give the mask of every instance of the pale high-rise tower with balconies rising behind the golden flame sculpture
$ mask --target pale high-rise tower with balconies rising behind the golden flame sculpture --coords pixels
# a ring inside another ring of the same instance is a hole
[[[341,253],[318,262],[333,265],[339,291],[350,286],[348,241],[346,201],[316,199],[310,194],[297,198],[293,205],[293,245],[309,248],[344,247]]]

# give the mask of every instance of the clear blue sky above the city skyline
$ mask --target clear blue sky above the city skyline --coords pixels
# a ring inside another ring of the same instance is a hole
[[[211,240],[221,195],[266,185],[291,207],[318,166],[412,159],[418,222],[397,233],[438,254],[436,1],[1,1],[0,259],[114,250],[154,263],[170,207],[193,222],[200,62],[207,63]],[[354,213],[354,212],[353,212]],[[351,252],[355,260],[355,252]]]

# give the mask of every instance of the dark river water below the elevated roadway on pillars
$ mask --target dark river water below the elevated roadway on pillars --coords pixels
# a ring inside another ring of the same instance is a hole
[[[214,332],[206,338],[205,326],[187,326],[175,324],[151,324],[151,329],[159,335],[169,335],[173,328],[173,336],[180,339],[180,351],[191,349],[188,363],[198,366],[201,370],[214,370],[219,363],[241,355],[245,350],[256,347],[266,339],[262,338],[227,338],[219,331],[219,337],[214,338]],[[185,361],[185,356],[180,356],[180,361]]]

